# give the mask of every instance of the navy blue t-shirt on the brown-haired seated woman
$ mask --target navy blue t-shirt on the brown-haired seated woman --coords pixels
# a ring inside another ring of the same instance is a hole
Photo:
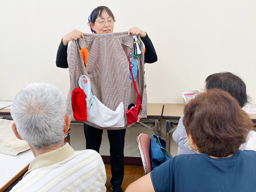
[[[256,192],[256,151],[221,159],[179,155],[150,174],[156,192]]]

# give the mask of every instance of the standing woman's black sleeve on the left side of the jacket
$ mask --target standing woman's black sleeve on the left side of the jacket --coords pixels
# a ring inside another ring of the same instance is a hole
[[[68,45],[63,45],[62,40],[57,51],[56,66],[60,68],[68,68]]]

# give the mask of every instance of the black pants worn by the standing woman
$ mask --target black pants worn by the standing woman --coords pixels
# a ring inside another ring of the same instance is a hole
[[[124,136],[126,129],[107,130],[110,144],[110,166],[112,178],[110,183],[114,187],[121,186],[124,178]],[[102,129],[98,129],[84,123],[84,135],[86,149],[100,152]]]

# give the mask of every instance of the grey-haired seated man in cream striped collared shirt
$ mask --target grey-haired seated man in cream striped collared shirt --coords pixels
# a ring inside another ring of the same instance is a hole
[[[33,83],[14,98],[12,130],[28,142],[35,158],[12,192],[106,191],[106,170],[94,150],[74,151],[64,144],[71,118],[66,101],[53,84]]]

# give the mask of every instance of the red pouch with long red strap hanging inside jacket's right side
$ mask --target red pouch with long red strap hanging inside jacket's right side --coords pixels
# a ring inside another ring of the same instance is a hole
[[[128,61],[129,61],[130,71],[131,71],[131,74],[132,74],[132,67],[131,67],[131,62],[130,62],[131,54],[132,54],[132,52],[130,53],[130,56],[129,56]],[[137,122],[137,120],[138,120],[138,115],[140,114],[140,111],[142,111],[142,105],[141,105],[142,98],[141,98],[141,96],[140,96],[140,94],[139,94],[139,92],[138,92],[138,90],[137,90],[137,86],[136,86],[136,83],[135,83],[133,74],[132,74],[132,81],[133,81],[134,87],[135,87],[135,89],[136,89],[138,98],[137,98],[136,106],[134,106],[133,108],[130,108],[128,111],[126,111],[127,127],[128,127],[131,123],[136,123],[136,122]]]

